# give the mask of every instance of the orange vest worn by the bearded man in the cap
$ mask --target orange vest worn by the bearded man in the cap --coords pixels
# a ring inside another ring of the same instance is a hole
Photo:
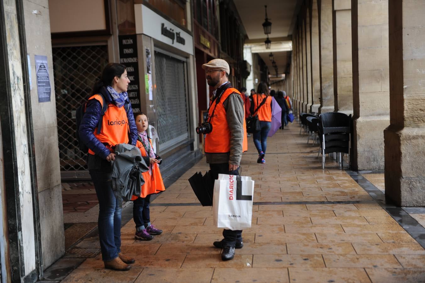
[[[241,96],[242,103],[244,101],[244,97],[236,88],[228,88],[221,95],[220,102],[218,102],[217,106],[212,105],[213,103],[217,103],[216,100],[214,102],[210,101],[210,109],[208,111],[208,117],[212,115],[212,111],[214,110],[214,116],[210,119],[210,123],[212,125],[211,133],[208,133],[205,137],[205,152],[206,153],[228,153],[230,151],[230,129],[227,124],[226,118],[226,109],[223,106],[223,102],[226,101],[227,97],[229,97],[232,93],[238,93]],[[244,115],[245,116],[245,115]],[[245,117],[244,117],[244,142],[242,143],[243,152],[248,150],[248,139],[246,137],[246,125],[245,125]]]

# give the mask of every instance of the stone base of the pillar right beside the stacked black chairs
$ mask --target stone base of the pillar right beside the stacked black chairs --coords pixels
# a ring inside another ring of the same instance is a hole
[[[390,116],[362,116],[353,121],[351,167],[353,170],[384,170],[384,130]]]

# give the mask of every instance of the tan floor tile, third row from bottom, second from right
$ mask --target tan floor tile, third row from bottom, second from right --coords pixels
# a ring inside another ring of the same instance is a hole
[[[287,243],[288,254],[355,254],[351,243]]]

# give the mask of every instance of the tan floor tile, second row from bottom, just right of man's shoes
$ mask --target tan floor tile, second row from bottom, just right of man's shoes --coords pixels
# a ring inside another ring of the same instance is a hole
[[[254,268],[325,267],[321,255],[254,255]]]

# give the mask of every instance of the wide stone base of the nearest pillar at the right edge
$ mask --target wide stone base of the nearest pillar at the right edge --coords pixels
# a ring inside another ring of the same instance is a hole
[[[385,199],[401,207],[425,206],[425,127],[384,130]]]

